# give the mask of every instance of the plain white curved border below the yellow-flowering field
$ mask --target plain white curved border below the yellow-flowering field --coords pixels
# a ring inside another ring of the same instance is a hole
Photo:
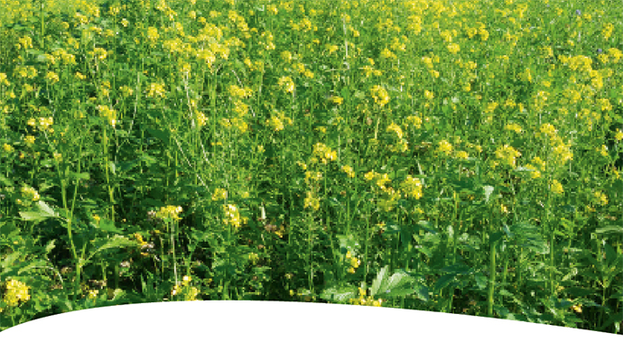
[[[506,319],[276,301],[179,301],[35,319],[0,341],[623,341],[620,335]]]

